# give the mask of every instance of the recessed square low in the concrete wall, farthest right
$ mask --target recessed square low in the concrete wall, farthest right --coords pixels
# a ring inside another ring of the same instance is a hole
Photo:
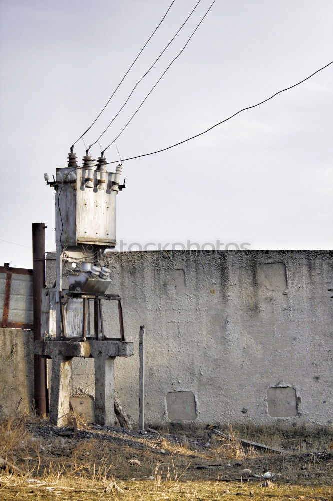
[[[267,390],[268,414],[271,417],[297,416],[296,390],[291,386]]]

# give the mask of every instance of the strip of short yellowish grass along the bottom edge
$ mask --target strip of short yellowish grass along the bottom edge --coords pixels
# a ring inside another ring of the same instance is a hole
[[[1,478],[0,499],[57,499],[61,501],[86,501],[97,498],[126,500],[126,501],[236,501],[239,496],[252,498],[257,501],[267,501],[276,498],[277,501],[287,499],[305,501],[331,501],[329,487],[300,487],[271,484],[224,484],[218,481],[127,481],[115,480],[123,493],[104,493],[105,487],[114,482],[114,479],[106,481],[87,480],[84,478],[59,477],[58,479],[41,479],[36,482],[28,482],[24,478],[7,476]]]

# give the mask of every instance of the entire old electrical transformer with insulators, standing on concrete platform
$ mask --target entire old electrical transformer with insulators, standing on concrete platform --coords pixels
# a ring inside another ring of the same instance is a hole
[[[57,250],[55,288],[44,290],[44,337],[115,339],[104,331],[102,314],[102,300],[113,300],[118,303],[119,339],[124,340],[121,298],[106,294],[111,281],[105,250],[116,244],[116,195],[125,184],[120,185],[121,164],[115,172],[106,166],[103,154],[96,164],[87,151],[79,167],[71,149],[68,165],[56,170],[56,179],[50,181],[45,173],[56,192]]]

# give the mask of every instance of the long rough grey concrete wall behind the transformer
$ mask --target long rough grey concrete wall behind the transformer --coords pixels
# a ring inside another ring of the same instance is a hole
[[[145,325],[147,422],[331,423],[331,258],[297,250],[112,252],[108,292],[123,298],[126,340],[137,347],[116,362],[117,392],[132,420]],[[105,316],[111,329],[113,314]],[[93,396],[92,363],[74,361],[73,395]]]

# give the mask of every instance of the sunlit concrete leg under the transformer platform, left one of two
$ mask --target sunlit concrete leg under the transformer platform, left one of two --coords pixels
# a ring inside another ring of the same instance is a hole
[[[52,359],[51,402],[49,419],[55,426],[65,426],[69,412],[71,358],[58,355]]]

